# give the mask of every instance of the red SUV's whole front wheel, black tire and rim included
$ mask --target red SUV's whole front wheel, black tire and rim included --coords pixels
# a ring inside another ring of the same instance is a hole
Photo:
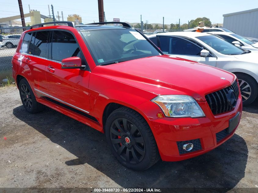
[[[107,118],[105,133],[114,156],[132,170],[146,170],[160,158],[151,128],[133,109],[114,110]]]

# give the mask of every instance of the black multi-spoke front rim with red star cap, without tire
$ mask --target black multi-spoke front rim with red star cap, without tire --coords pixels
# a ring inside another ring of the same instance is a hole
[[[110,139],[116,153],[127,163],[143,160],[145,142],[138,127],[126,118],[115,119],[111,125]]]

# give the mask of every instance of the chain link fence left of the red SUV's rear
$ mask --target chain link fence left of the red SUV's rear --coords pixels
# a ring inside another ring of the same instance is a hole
[[[0,28],[0,84],[12,75],[12,58],[19,43],[22,28]]]

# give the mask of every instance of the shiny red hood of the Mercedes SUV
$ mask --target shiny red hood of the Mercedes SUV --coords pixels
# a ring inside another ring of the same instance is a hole
[[[96,66],[92,73],[157,95],[190,95],[198,101],[235,80],[227,71],[168,55]]]

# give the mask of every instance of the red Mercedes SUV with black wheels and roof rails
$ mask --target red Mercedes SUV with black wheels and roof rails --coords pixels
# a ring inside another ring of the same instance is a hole
[[[13,78],[28,112],[45,105],[105,133],[133,170],[160,157],[192,158],[232,137],[242,114],[234,74],[163,55],[127,23],[66,23],[21,35]]]

